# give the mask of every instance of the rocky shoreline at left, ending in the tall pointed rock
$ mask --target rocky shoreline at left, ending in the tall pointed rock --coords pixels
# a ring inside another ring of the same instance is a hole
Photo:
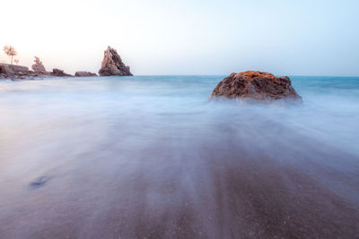
[[[53,69],[52,72],[48,72],[45,66],[40,62],[39,57],[35,56],[34,64],[31,66],[31,70],[28,67],[15,64],[0,64],[0,79],[35,79],[46,77],[90,77],[97,76],[96,73],[89,72],[76,72],[74,75],[64,73],[63,70]],[[118,52],[111,47],[108,47],[103,56],[101,69],[99,71],[101,76],[109,75],[133,75],[129,66],[122,62]]]

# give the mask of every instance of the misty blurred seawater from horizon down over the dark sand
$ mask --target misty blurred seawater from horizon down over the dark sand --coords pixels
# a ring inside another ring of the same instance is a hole
[[[0,238],[359,237],[359,78],[0,81]]]

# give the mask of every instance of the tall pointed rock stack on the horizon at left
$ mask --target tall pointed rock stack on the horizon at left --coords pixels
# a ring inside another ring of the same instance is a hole
[[[105,50],[99,74],[102,76],[133,75],[129,71],[129,66],[122,62],[118,52],[111,47],[108,47],[107,50]]]

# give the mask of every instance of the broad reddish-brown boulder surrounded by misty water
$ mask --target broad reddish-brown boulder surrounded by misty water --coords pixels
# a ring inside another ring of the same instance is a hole
[[[211,98],[217,97],[257,100],[301,98],[288,77],[276,77],[271,73],[255,71],[232,73],[224,78],[211,94]]]

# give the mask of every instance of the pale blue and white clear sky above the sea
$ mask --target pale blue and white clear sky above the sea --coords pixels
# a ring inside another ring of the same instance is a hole
[[[111,46],[134,74],[359,76],[357,0],[2,0],[0,11],[0,47],[48,71],[97,73]]]

